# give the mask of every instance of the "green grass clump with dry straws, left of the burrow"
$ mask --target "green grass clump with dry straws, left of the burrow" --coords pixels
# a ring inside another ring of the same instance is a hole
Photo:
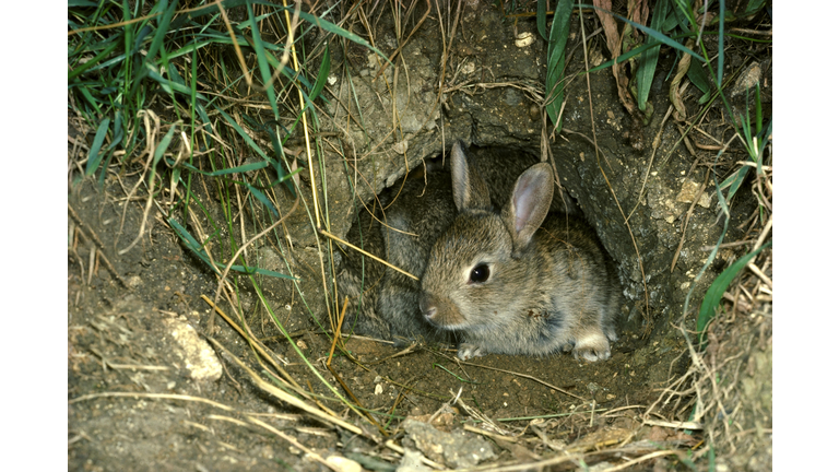
[[[71,180],[96,178],[105,185],[109,178],[132,178],[127,193],[130,200],[144,189],[144,221],[157,208],[217,276],[211,305],[217,309],[223,297],[237,315],[229,322],[244,323],[241,291],[252,291],[289,342],[262,287],[270,279],[287,280],[303,297],[286,252],[283,223],[291,212],[305,209],[312,232],[328,227],[328,208],[321,208],[327,200],[319,193],[326,192],[324,181],[314,177],[318,166],[323,176],[322,158],[311,133],[319,131],[317,107],[328,102],[321,92],[330,72],[330,38],[381,55],[330,21],[334,7],[315,14],[302,11],[300,3],[295,9],[240,0],[193,9],[165,0],[68,5],[68,107],[79,131],[95,130]],[[304,38],[314,35],[322,38],[307,48]],[[289,140],[300,137],[306,153],[289,155]],[[303,170],[309,189],[300,181]],[[304,191],[311,200],[300,198]],[[285,272],[260,267],[256,251],[248,251],[257,240],[279,249]],[[231,271],[241,276],[228,278]],[[326,287],[327,269],[321,272]],[[329,306],[327,290],[324,297]],[[305,298],[303,305],[308,307]],[[209,318],[208,332],[214,319]],[[240,332],[259,344],[247,326]],[[353,409],[291,345],[334,399]],[[269,378],[282,378],[277,366],[263,367],[273,373]],[[277,384],[309,398],[299,387]]]

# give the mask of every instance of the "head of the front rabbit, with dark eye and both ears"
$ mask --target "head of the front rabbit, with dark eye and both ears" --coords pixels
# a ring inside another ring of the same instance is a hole
[[[551,205],[552,169],[542,163],[519,176],[500,213],[459,144],[451,180],[458,216],[432,247],[420,309],[439,328],[492,331],[508,326],[541,288],[532,274],[544,261],[531,241]]]

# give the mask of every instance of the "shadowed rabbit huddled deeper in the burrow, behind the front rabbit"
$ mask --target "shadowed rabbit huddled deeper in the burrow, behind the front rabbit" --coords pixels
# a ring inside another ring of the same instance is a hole
[[[395,201],[386,193],[380,199],[386,210],[377,211],[375,217],[362,210],[361,224],[350,229],[348,241],[361,246],[363,240],[373,255],[411,274],[422,274],[432,244],[457,215],[450,180],[441,174],[429,173],[427,185],[410,178]],[[358,316],[353,311],[346,316],[344,331],[397,341],[398,345],[420,338],[451,341],[421,316],[416,280],[370,258],[364,259],[364,267],[362,261],[361,255],[347,251],[338,275],[339,291],[353,304],[361,302]]]

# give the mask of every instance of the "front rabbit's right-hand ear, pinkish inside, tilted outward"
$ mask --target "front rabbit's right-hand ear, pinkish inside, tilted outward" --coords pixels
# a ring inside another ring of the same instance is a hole
[[[516,180],[510,203],[501,213],[512,236],[513,253],[523,249],[545,221],[554,197],[554,179],[551,165],[536,164],[524,170]]]

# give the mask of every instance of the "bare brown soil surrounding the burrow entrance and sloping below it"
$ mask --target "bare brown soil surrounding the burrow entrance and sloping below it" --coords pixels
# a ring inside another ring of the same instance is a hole
[[[537,88],[544,80],[544,44],[537,38],[528,48],[515,45],[517,33],[537,34],[535,22],[513,24],[494,8],[465,3],[448,61],[442,111],[434,107],[434,84],[439,79],[441,55],[436,21],[425,22],[403,48],[407,63],[404,70],[411,71],[411,85],[406,88],[404,80],[399,82],[392,92],[395,105],[389,103],[392,95],[374,101],[373,97],[380,96],[377,94],[383,90],[385,81],[373,81],[378,67],[374,67],[373,59],[368,62],[366,50],[351,46],[346,61],[340,54],[333,57],[332,63],[348,64],[350,76],[357,81],[357,101],[371,130],[369,138],[350,130],[348,139],[388,143],[367,153],[376,158],[352,163],[353,172],[370,182],[368,187],[357,187],[357,200],[352,198],[353,190],[347,185],[352,178],[347,179],[343,161],[327,156],[324,168],[332,198],[329,213],[334,234],[346,234],[358,203],[368,202],[385,187],[398,182],[405,166],[416,167],[424,160],[436,157],[444,148],[442,129],[447,140],[454,137],[477,145],[515,145],[540,152],[542,123],[541,118],[532,119],[528,87]],[[593,16],[587,16],[586,22],[589,34],[598,27]],[[388,55],[397,46],[392,31],[387,19],[377,25],[378,46]],[[580,36],[577,24],[567,54],[572,71],[584,68],[581,48],[577,47],[579,39],[575,39]],[[602,39],[590,47],[593,54],[607,54]],[[324,303],[332,296],[324,296],[320,269],[321,260],[329,261],[320,256],[328,246],[323,239],[318,245],[306,212],[298,209],[289,216],[285,241],[260,241],[249,255],[260,260],[260,267],[295,274],[299,283],[260,278],[263,303],[247,276],[231,275],[239,297],[239,312],[245,314],[236,322],[247,324],[289,377],[319,396],[328,409],[361,427],[361,435],[335,428],[277,400],[235,362],[234,358],[241,359],[270,379],[246,339],[214,315],[202,298],[214,299],[216,275],[186,248],[159,212],[153,210],[144,217],[145,197],[126,199],[126,188],[137,182],[135,177],[108,174],[102,186],[78,180],[70,189],[68,220],[69,469],[323,470],[324,462],[329,462],[329,467],[352,470],[353,462],[341,462],[342,458],[350,458],[369,470],[378,470],[382,464],[392,470],[401,460],[413,457],[413,452],[398,452],[386,445],[388,439],[394,439],[394,434],[398,445],[410,451],[418,449],[435,460],[418,429],[412,432],[409,424],[399,427],[409,416],[434,424],[444,433],[477,426],[478,414],[492,418],[503,432],[529,432],[519,442],[487,442],[495,463],[532,462],[555,457],[556,450],[568,445],[583,442],[607,450],[625,440],[657,440],[646,449],[639,446],[637,456],[659,448],[687,450],[686,447],[696,445],[700,439],[697,436],[662,433],[641,422],[647,408],[657,403],[664,389],[688,368],[686,340],[673,327],[680,322],[690,283],[708,256],[702,247],[716,244],[722,231],[712,190],[706,189],[706,196],[697,199],[700,203],[692,205],[697,189],[706,182],[707,164],[713,162],[716,152],[680,143],[683,125],[672,120],[665,121],[661,144],[653,151],[652,143],[669,107],[664,76],[675,59],[672,51],[664,51],[660,59],[651,93],[655,110],[652,125],[640,130],[647,142],[645,151],[639,153],[631,148],[634,137],[628,133],[636,131],[607,70],[592,74],[590,83],[584,76],[570,83],[566,91],[565,131],[551,143],[566,190],[593,223],[619,268],[626,298],[622,304],[621,338],[612,345],[612,357],[587,363],[570,355],[487,355],[458,362],[452,346],[413,345],[400,351],[388,342],[347,339],[345,349],[353,358],[336,351],[331,366],[356,397],[357,404],[377,412],[378,427],[388,437],[336,402],[318,378],[326,378],[332,388],[345,394],[324,366],[332,338],[322,327],[328,326],[327,306],[334,311],[335,302]],[[751,56],[742,56],[741,60],[763,64],[764,76],[771,78],[769,64]],[[339,66],[333,68],[339,70]],[[393,68],[387,68],[382,75],[393,74]],[[346,99],[345,82],[334,85],[333,105]],[[515,85],[492,87],[489,83]],[[592,135],[589,96],[593,101],[602,156],[596,156],[589,140],[578,134]],[[697,97],[692,98],[688,106],[696,108],[693,114],[698,114]],[[761,99],[765,109],[771,106],[771,88],[761,91]],[[403,134],[388,138],[389,114],[393,109],[400,113]],[[336,106],[323,113],[334,122],[346,121]],[[722,135],[730,123],[714,126]],[[72,122],[70,128],[73,134]],[[730,134],[729,130],[726,137]],[[398,144],[403,142],[410,143],[410,150],[401,154]],[[742,148],[733,149],[723,157],[722,167],[731,168],[742,158]],[[724,177],[725,168],[720,173]],[[316,181],[321,181],[319,176]],[[304,186],[309,184],[305,179]],[[202,217],[210,215],[223,222],[224,210],[212,196],[212,189],[208,190],[211,186],[196,187],[206,208]],[[712,187],[711,179],[709,188]],[[742,193],[732,204],[725,241],[748,236],[748,228],[738,226],[748,221],[756,204],[747,192]],[[306,192],[302,194],[309,198]],[[293,198],[285,198],[285,208],[291,208]],[[633,213],[629,226],[635,240],[629,237],[622,211]],[[259,222],[267,216],[253,213],[244,217]],[[683,227],[686,220],[689,223]],[[179,221],[191,225],[191,229],[196,227],[189,219]],[[239,228],[220,227],[218,232],[222,240],[241,239]],[[138,235],[139,241],[123,251]],[[293,247],[287,245],[288,240]],[[693,305],[724,261],[738,257],[744,249],[735,247],[720,252],[694,290]],[[680,257],[671,268],[674,253]],[[638,255],[643,268],[638,264]],[[289,261],[288,266],[283,258]],[[236,316],[226,297],[220,298],[218,306]],[[288,337],[276,328],[275,320]],[[695,326],[695,319],[688,317],[686,326]],[[771,367],[769,381],[770,370]],[[453,401],[456,398],[461,401]],[[687,421],[690,406],[687,398],[673,399],[667,404],[659,403],[655,414],[669,421]],[[769,409],[771,427],[771,401]],[[765,421],[766,412],[760,411]],[[438,451],[439,463],[449,468],[474,465],[447,456],[449,449],[446,451]],[[618,459],[604,452],[587,456],[586,460],[591,464]],[[657,465],[666,469],[686,468],[673,456],[659,461]],[[653,462],[628,470],[648,470],[650,463]],[[552,467],[562,470],[575,464],[579,462]]]

